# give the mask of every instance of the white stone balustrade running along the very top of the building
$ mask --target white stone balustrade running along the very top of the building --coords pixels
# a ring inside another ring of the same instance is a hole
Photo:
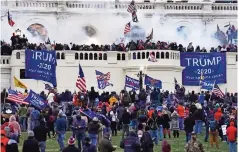
[[[67,8],[67,9],[127,9],[130,3],[125,2],[87,2],[87,1],[1,1],[5,9],[11,8]],[[205,10],[205,11],[236,11],[235,3],[136,3],[138,10]],[[61,10],[61,9],[59,9]]]

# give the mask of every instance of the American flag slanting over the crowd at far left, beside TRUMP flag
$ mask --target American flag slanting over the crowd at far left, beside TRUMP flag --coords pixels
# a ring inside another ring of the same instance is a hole
[[[24,95],[21,93],[17,93],[16,91],[12,90],[12,89],[8,89],[8,100],[11,100],[13,102],[19,103],[19,104],[29,104],[28,102],[25,102],[24,99]]]

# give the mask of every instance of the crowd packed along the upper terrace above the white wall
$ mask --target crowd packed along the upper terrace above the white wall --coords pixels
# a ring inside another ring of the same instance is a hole
[[[11,55],[12,50],[19,50],[19,49],[32,49],[32,50],[76,50],[76,51],[128,51],[128,50],[177,50],[180,52],[236,52],[237,45],[228,44],[227,46],[218,46],[212,47],[209,51],[205,49],[205,47],[200,48],[197,46],[196,48],[189,43],[187,47],[183,46],[182,44],[177,44],[176,42],[148,42],[138,40],[137,42],[131,41],[128,44],[119,43],[112,45],[78,45],[70,43],[68,44],[61,44],[61,43],[51,43],[49,40],[45,43],[30,43],[28,39],[23,34],[22,37],[19,35],[15,35],[13,33],[11,37],[11,44],[7,44],[4,41],[1,41],[1,55]]]

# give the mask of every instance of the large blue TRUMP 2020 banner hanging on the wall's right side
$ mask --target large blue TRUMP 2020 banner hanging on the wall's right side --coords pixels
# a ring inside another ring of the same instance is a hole
[[[182,84],[199,86],[200,77],[217,84],[226,83],[226,53],[180,53]]]

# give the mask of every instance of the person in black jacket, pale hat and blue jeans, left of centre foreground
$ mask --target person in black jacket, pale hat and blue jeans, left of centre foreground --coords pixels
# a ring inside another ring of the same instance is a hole
[[[84,121],[84,120],[83,120]],[[92,140],[92,145],[97,146],[98,133],[101,129],[99,120],[94,117],[93,120],[88,124],[88,136]]]

